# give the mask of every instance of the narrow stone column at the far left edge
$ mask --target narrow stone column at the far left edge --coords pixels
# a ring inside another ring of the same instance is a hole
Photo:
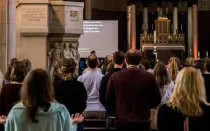
[[[7,68],[6,48],[6,0],[0,1],[0,70],[5,73]]]

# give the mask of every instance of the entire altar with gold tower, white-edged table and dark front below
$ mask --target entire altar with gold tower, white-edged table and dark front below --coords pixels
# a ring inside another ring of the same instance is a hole
[[[180,59],[185,57],[185,34],[182,27],[180,31],[171,32],[170,22],[166,16],[158,17],[152,33],[144,32],[140,35],[140,48],[144,59],[156,54],[159,60],[167,63],[171,56]]]

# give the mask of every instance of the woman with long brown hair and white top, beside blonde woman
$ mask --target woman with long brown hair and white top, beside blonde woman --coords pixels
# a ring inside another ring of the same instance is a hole
[[[166,65],[163,62],[158,62],[155,65],[153,74],[160,87],[162,102],[168,101],[173,92],[174,83],[169,77]]]

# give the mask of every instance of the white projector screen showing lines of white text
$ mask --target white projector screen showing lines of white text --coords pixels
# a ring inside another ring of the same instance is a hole
[[[81,58],[87,58],[92,50],[99,58],[118,50],[118,21],[85,20],[84,34],[79,39]]]

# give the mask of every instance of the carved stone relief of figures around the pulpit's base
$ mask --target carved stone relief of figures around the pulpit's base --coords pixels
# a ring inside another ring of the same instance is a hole
[[[79,43],[78,42],[51,42],[50,49],[48,51],[49,58],[49,72],[51,76],[54,76],[55,73],[61,73],[61,61],[66,58],[73,58],[77,64],[79,64]]]

